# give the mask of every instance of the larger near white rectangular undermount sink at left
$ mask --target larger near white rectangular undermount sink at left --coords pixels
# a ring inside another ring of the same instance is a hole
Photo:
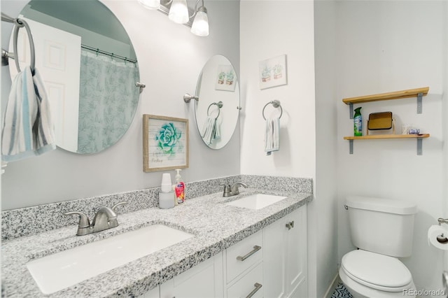
[[[43,294],[51,294],[190,237],[179,229],[151,225],[32,260],[27,268]]]

